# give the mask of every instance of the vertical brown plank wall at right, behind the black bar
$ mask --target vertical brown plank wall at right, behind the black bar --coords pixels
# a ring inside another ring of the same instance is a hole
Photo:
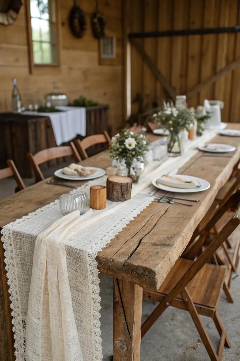
[[[239,0],[130,0],[131,31],[164,31],[240,25]],[[224,68],[240,56],[240,33],[191,35],[138,40],[178,94]],[[239,122],[240,67],[188,100],[189,106],[204,99],[225,102],[222,120]],[[131,96],[139,92],[145,103],[167,99],[148,66],[132,47]],[[132,106],[134,112],[136,107]]]

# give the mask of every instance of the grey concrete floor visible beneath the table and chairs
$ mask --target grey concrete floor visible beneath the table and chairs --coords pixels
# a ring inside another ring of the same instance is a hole
[[[34,179],[24,179],[26,186]],[[14,179],[0,181],[0,199],[14,194]],[[240,268],[239,268],[240,272]],[[110,361],[113,354],[113,281],[100,274],[101,331],[103,339],[103,361]],[[240,277],[232,280],[231,292],[234,304],[228,303],[222,293],[218,314],[225,327],[232,347],[225,348],[223,361],[240,361]],[[144,300],[142,321],[157,306],[153,301]],[[219,335],[212,319],[201,319],[215,348]],[[141,342],[141,361],[209,361],[208,354],[188,312],[169,307],[144,336]]]

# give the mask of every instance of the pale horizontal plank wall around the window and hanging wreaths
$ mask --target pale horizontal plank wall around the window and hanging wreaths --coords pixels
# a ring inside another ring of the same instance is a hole
[[[58,82],[70,101],[84,95],[109,104],[109,123],[114,132],[122,124],[122,0],[99,0],[99,10],[107,17],[107,29],[117,36],[117,65],[114,66],[98,65],[99,44],[90,27],[95,0],[80,1],[87,16],[87,32],[82,39],[74,38],[69,29],[72,5],[73,0],[58,0],[61,66],[57,72],[47,68],[43,75],[30,74],[24,5],[14,25],[0,25],[0,112],[11,110],[13,77],[17,77],[23,105],[43,97],[53,90],[53,82]]]

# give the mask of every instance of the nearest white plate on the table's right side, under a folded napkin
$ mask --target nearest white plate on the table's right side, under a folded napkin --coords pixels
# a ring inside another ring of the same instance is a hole
[[[198,188],[175,188],[175,187],[164,186],[163,184],[156,183],[157,179],[160,178],[159,176],[154,178],[152,183],[155,187],[162,189],[163,191],[176,192],[176,193],[202,192],[210,187],[210,183],[208,181],[205,181],[205,179],[193,177],[192,175],[185,175],[185,174],[175,174],[175,175],[180,175],[181,178],[190,179],[190,181],[197,181],[200,184],[200,187],[198,187]]]

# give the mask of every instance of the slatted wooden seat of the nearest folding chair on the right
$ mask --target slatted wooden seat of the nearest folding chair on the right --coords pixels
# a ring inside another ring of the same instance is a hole
[[[192,260],[178,258],[158,291],[155,292],[168,295],[193,263],[194,261]],[[193,302],[199,306],[205,306],[215,310],[221,295],[225,272],[225,266],[205,264],[187,285],[187,290],[189,291]],[[177,298],[182,299],[182,296],[178,295]]]

